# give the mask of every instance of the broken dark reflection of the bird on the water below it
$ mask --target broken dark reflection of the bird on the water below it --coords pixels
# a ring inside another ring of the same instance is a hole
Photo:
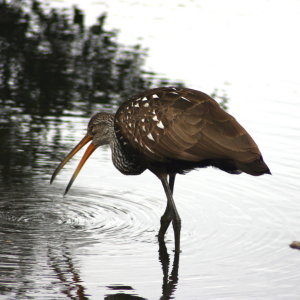
[[[58,253],[59,252],[59,253]],[[170,270],[170,255],[164,241],[159,243],[159,261],[163,271],[162,296],[161,300],[174,298],[174,292],[178,283],[178,267],[180,252],[174,252],[172,270]],[[64,244],[63,247],[48,249],[48,264],[56,274],[57,279],[63,285],[62,292],[66,299],[88,300],[89,295],[84,287],[84,282],[80,277],[79,270],[76,268],[72,253]],[[137,296],[134,288],[127,285],[110,285],[110,290],[118,291],[115,294],[107,294],[105,300],[146,300]],[[125,293],[125,291],[127,291]]]

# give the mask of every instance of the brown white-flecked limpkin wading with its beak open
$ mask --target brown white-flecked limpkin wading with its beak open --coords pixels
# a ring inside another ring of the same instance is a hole
[[[193,89],[161,87],[125,101],[115,114],[95,114],[87,134],[54,171],[51,182],[74,154],[92,141],[75,170],[70,189],[93,151],[109,144],[115,167],[125,175],[146,169],[162,182],[167,206],[159,241],[172,221],[175,251],[180,251],[181,219],[173,200],[176,174],[216,167],[230,174],[271,174],[251,136],[210,96]]]

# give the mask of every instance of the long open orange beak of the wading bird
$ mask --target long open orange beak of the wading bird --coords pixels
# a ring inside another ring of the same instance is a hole
[[[53,175],[51,177],[50,183],[53,182],[53,180],[55,179],[56,175],[59,173],[59,171],[65,166],[65,164],[84,146],[86,145],[90,140],[92,139],[92,137],[86,135],[73,149],[72,151],[63,159],[63,161],[58,165],[58,167],[55,169],[55,171],[53,172]],[[90,157],[90,155],[96,150],[96,147],[94,144],[90,144],[88,146],[88,148],[86,149],[83,157],[81,158],[75,172],[73,173],[72,178],[70,179],[67,188],[65,190],[65,194],[69,191],[69,189],[71,188],[74,180],[76,179],[77,175],[79,174],[81,168],[83,167],[84,163],[87,161],[87,159]],[[64,194],[64,195],[65,195]]]

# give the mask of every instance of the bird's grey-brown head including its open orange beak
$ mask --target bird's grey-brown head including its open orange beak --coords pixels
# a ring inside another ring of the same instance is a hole
[[[50,183],[53,182],[56,175],[59,171],[65,166],[65,164],[88,142],[92,141],[88,148],[86,149],[84,155],[81,158],[80,163],[78,164],[75,172],[73,173],[72,178],[69,181],[69,184],[65,190],[65,194],[71,188],[74,180],[76,179],[77,175],[79,174],[81,168],[83,167],[84,163],[90,157],[90,155],[96,150],[97,147],[109,144],[112,138],[112,131],[113,131],[113,120],[114,115],[105,112],[99,112],[95,114],[87,128],[87,134],[83,137],[83,139],[71,150],[71,152],[62,160],[62,162],[57,166],[55,171],[52,174]]]

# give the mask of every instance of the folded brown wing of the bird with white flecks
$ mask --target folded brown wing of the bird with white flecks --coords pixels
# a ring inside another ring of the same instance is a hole
[[[259,149],[246,130],[208,95],[159,88],[126,101],[117,111],[121,142],[146,158],[252,161]]]

